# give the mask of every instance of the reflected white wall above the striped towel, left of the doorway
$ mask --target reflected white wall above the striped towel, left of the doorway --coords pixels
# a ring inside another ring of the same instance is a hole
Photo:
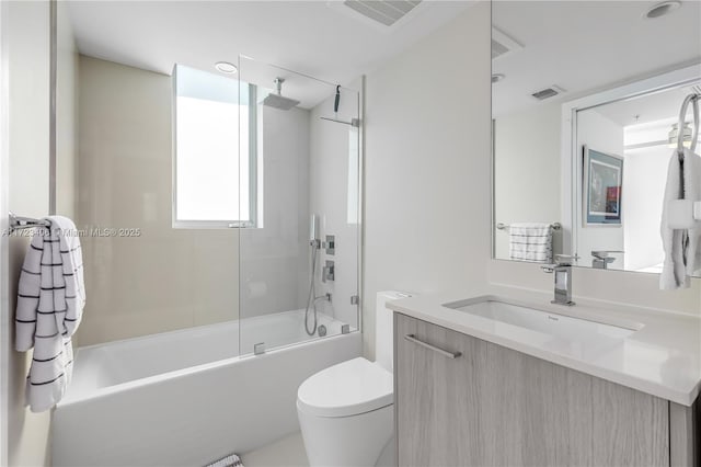
[[[562,221],[560,117],[555,103],[495,119],[495,224]],[[495,258],[509,258],[508,239],[508,230],[495,230]],[[562,230],[553,232],[556,253],[562,253]]]

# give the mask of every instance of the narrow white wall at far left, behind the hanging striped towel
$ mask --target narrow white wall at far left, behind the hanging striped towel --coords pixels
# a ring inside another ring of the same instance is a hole
[[[18,215],[48,214],[49,151],[49,4],[10,2],[9,26],[9,200]],[[3,326],[12,339],[2,342],[9,356],[8,465],[50,464],[50,412],[32,413],[24,407],[24,388],[32,353],[14,351],[16,285],[27,237],[9,239],[8,312]]]

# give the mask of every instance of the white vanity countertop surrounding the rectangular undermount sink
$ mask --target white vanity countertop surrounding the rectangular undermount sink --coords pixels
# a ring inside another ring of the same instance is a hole
[[[553,349],[516,326],[495,326],[489,318],[443,306],[489,295],[490,299],[537,308],[613,326],[642,329],[609,349]],[[691,406],[701,389],[701,318],[644,308],[579,300],[573,307],[552,305],[539,292],[462,291],[394,300],[388,307],[434,324],[522,352],[567,368],[680,403]]]

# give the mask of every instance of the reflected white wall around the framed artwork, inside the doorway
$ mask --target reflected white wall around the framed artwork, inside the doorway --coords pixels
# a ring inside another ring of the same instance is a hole
[[[623,127],[599,114],[596,110],[583,111],[577,114],[577,148],[587,145],[589,149],[601,152],[608,152],[623,157]],[[579,149],[578,160],[582,161],[583,153]],[[623,163],[623,172],[625,172],[625,162]],[[584,193],[582,190],[582,180],[578,180],[579,189],[577,193]],[[625,186],[623,187],[625,190]],[[627,192],[622,192],[622,197],[627,196]],[[581,257],[578,264],[584,266],[591,265],[593,250],[611,250],[624,251],[622,225],[619,226],[586,226],[583,217],[583,203],[576,203],[575,223],[578,223],[577,243],[575,252]],[[616,260],[608,265],[608,269],[623,269],[623,255],[613,254]]]

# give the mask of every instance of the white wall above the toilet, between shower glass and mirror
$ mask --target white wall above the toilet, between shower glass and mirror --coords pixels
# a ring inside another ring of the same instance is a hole
[[[490,258],[490,3],[369,73],[365,353],[382,289],[485,284]]]

